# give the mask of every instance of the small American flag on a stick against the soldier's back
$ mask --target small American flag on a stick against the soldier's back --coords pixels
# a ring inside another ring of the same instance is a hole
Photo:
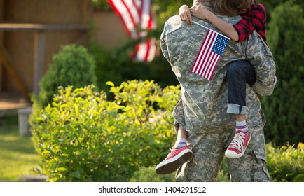
[[[208,29],[191,71],[211,80],[219,57],[221,57],[229,40],[230,38]]]

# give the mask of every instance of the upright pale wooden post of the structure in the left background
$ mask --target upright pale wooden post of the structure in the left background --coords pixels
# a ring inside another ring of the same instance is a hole
[[[45,31],[34,33],[34,94],[39,94],[39,81],[44,72],[44,51],[46,45]]]

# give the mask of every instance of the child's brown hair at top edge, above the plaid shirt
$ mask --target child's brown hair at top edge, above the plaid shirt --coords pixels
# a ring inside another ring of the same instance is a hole
[[[213,0],[212,5],[217,13],[228,16],[240,15],[240,11],[249,10],[254,0]]]

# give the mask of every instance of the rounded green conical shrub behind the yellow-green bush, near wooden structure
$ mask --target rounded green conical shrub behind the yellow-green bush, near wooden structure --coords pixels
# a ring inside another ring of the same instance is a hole
[[[53,56],[53,64],[41,79],[39,95],[32,96],[34,103],[30,121],[36,118],[43,107],[52,102],[59,86],[83,87],[96,83],[95,60],[88,50],[82,45],[64,45],[60,52]]]

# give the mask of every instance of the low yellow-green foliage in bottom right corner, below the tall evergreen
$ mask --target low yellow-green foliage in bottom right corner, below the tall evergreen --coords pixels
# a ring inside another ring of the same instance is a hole
[[[267,146],[267,166],[272,181],[304,181],[304,144],[275,148]]]

